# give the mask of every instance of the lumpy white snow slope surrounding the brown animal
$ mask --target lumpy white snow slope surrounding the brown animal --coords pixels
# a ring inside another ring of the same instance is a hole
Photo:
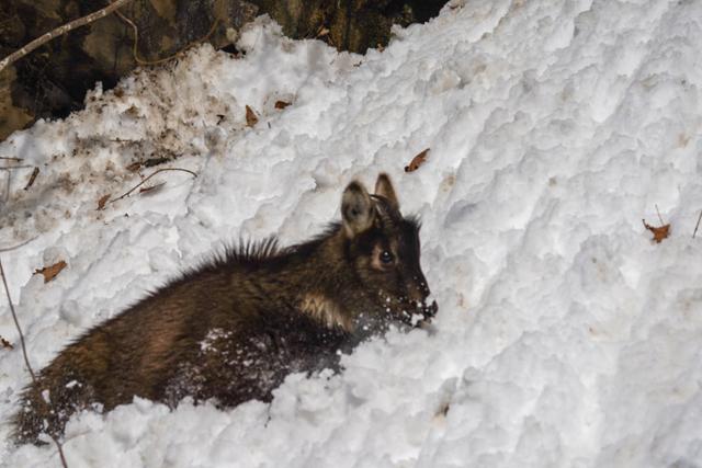
[[[38,236],[2,253],[36,367],[223,240],[318,232],[382,170],[421,215],[440,305],[433,331],[293,375],[270,406],[75,416],[70,467],[702,466],[700,19],[689,0],[453,1],[365,57],[260,20],[244,58],[203,46],[16,133],[0,156],[41,173],[24,191],[12,171],[0,247]],[[149,155],[199,176],[97,210]],[[19,344],[4,298],[0,335]],[[27,380],[0,350],[2,440]],[[53,446],[0,459],[58,466]]]

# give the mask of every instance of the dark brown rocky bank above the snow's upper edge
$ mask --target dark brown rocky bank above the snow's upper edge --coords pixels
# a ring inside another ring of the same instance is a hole
[[[364,53],[389,41],[390,26],[423,22],[444,1],[419,0],[134,0],[113,13],[55,38],[0,72],[0,140],[37,118],[59,118],[82,109],[86,91],[103,89],[138,65],[161,62],[206,38],[235,52],[227,28],[239,30],[268,13],[293,38],[313,38]],[[106,4],[106,3],[104,3]],[[0,2],[0,57],[98,9],[89,0]]]

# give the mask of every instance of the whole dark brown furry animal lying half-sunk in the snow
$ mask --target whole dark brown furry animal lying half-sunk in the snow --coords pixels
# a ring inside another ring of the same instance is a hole
[[[410,324],[411,312],[433,316],[418,226],[400,215],[387,175],[375,191],[352,182],[342,222],[318,238],[229,250],[89,330],[25,389],[15,440],[60,435],[75,411],[134,396],[171,407],[185,396],[222,407],[268,401],[287,374],[337,369],[339,351]]]

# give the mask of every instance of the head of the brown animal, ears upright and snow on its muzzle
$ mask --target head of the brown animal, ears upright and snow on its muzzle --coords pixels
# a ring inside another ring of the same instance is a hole
[[[375,317],[370,319],[382,316],[415,324],[416,315],[432,317],[437,303],[427,305],[430,290],[419,261],[419,224],[400,214],[389,178],[378,175],[373,195],[351,182],[341,198],[341,217],[347,259],[374,304],[367,313]]]

